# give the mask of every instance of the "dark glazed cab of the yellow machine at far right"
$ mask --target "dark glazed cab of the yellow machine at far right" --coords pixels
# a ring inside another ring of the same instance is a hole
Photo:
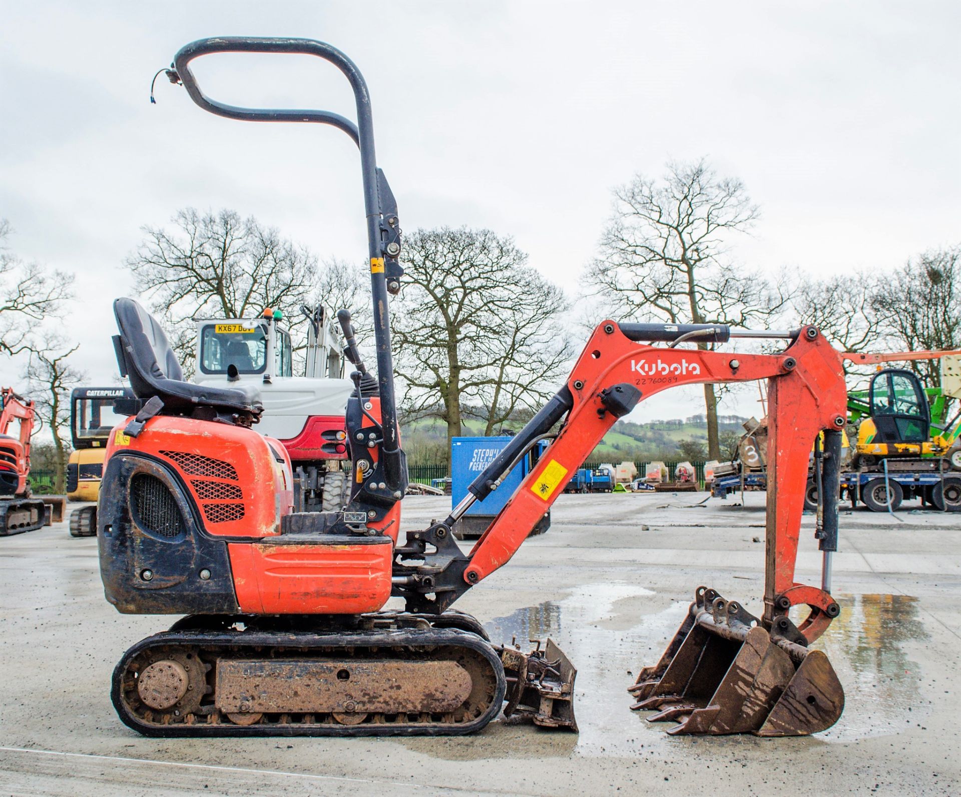
[[[879,371],[869,389],[875,443],[926,443],[931,409],[917,375],[903,369]]]

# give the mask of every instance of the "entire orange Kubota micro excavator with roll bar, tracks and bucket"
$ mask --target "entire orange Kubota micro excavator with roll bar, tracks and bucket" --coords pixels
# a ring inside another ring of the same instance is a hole
[[[188,63],[224,52],[298,53],[332,62],[357,98],[357,125],[319,110],[242,109],[209,100]],[[845,383],[838,352],[812,326],[752,332],[719,325],[605,321],[566,383],[474,481],[443,522],[407,531],[407,462],[394,402],[388,294],[403,271],[393,195],[377,168],[370,100],[357,67],[328,44],[209,38],[168,70],[201,108],[250,121],[314,122],[359,146],[374,306],[377,373],[338,314],[355,366],[346,408],[352,487],[337,511],[292,511],[289,456],[251,426],[256,386],[185,382],[163,330],[136,302],[114,304],[121,370],[136,399],[111,436],[98,512],[108,600],[127,614],[177,614],[117,664],[112,700],[150,736],[466,734],[502,709],[577,729],[576,670],[551,640],[530,655],[491,644],[456,599],[504,566],[585,456],[642,399],[699,382],[769,380],[767,568],[763,615],[699,589],[660,664],[632,688],[654,718],[682,733],[800,735],[824,730],[844,695],[825,656],[808,648],[838,605],[830,596],[837,508],[822,507],[821,588],[794,581],[808,453],[825,430],[825,484],[837,479]],[[787,341],[779,354],[683,348],[732,337]],[[119,409],[119,408],[118,408]],[[548,441],[536,468],[469,552],[452,527],[514,464]],[[831,471],[833,467],[833,471]],[[825,487],[822,495],[836,495]],[[391,597],[405,608],[385,610]],[[788,617],[809,607],[800,625]]]

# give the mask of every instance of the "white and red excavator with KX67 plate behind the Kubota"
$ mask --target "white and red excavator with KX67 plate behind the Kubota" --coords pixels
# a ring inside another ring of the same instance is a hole
[[[305,375],[293,375],[294,350],[283,313],[197,322],[197,384],[254,383],[263,415],[254,428],[277,438],[294,466],[301,512],[339,509],[348,488],[344,413],[354,383],[345,379],[335,320],[326,307],[301,307],[308,319]],[[299,369],[298,369],[299,370]]]

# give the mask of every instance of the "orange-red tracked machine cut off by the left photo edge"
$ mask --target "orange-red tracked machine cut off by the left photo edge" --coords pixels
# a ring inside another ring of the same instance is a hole
[[[0,534],[35,531],[45,520],[43,501],[30,497],[30,436],[34,431],[34,402],[12,388],[0,390]],[[15,436],[9,435],[18,422]]]

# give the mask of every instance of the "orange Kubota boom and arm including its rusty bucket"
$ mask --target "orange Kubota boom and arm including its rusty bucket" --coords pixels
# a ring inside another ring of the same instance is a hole
[[[617,421],[640,401],[682,384],[768,379],[768,491],[764,611],[755,617],[735,601],[701,587],[661,661],[631,688],[635,709],[653,719],[678,719],[672,733],[796,736],[830,727],[844,690],[830,663],[808,644],[824,633],[840,607],[830,595],[830,561],[837,548],[837,507],[825,503],[817,536],[824,551],[820,587],[795,581],[808,454],[824,432],[825,493],[837,482],[845,389],[841,357],[813,326],[791,334],[780,354],[742,354],[652,346],[681,336],[723,343],[726,326],[598,326],[567,383],[480,474],[470,494],[443,523],[407,535],[394,568],[394,593],[409,611],[442,612],[470,586],[503,567],[554,503],[580,464]],[[736,333],[735,333],[736,334]],[[780,335],[777,335],[780,336]],[[559,431],[552,433],[560,421]],[[505,472],[538,441],[552,442],[469,554],[451,527],[476,499],[496,489]],[[836,493],[836,488],[834,489]],[[427,553],[428,546],[436,548]],[[417,568],[403,564],[417,558]],[[425,567],[426,566],[426,567]],[[806,607],[796,625],[792,607]]]

